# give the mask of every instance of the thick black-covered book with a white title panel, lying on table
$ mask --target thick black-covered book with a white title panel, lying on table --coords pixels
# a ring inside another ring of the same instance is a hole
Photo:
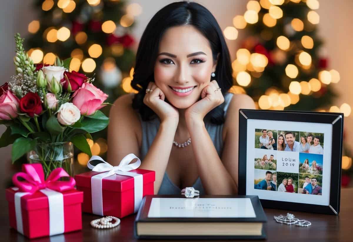
[[[265,239],[258,196],[146,195],[134,222],[139,239]]]

